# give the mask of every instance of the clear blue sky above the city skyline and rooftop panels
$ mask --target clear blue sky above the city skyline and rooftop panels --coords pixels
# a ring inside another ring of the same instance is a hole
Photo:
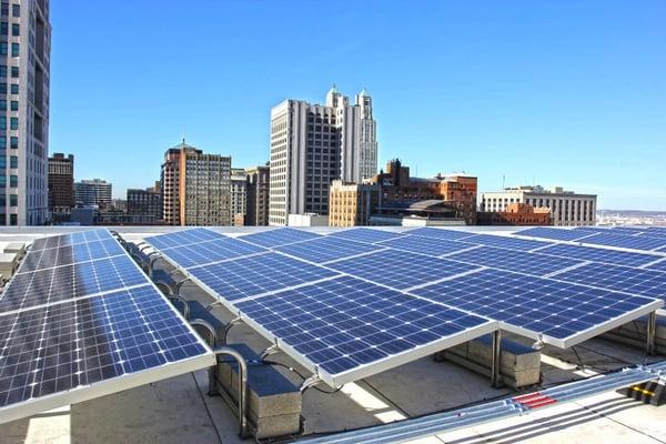
[[[380,162],[666,210],[666,1],[53,0],[50,150],[114,195],[186,141],[269,159],[272,105],[374,101]]]

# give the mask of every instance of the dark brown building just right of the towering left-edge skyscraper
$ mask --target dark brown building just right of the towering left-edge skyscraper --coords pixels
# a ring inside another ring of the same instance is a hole
[[[49,158],[49,212],[67,214],[74,204],[74,157],[53,153]]]

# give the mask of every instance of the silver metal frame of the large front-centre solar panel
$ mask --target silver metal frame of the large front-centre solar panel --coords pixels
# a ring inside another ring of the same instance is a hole
[[[336,278],[341,278],[341,276],[336,276]],[[357,276],[351,276],[351,278],[366,281],[366,280],[360,279]],[[331,279],[335,279],[335,278],[331,278]],[[384,286],[384,285],[380,285],[375,282],[371,282],[371,281],[366,281],[366,282],[370,282],[377,286]],[[311,283],[311,284],[314,284],[314,283]],[[287,289],[282,290],[282,291],[286,291],[286,290]],[[389,290],[398,292],[398,293],[403,293],[403,294],[405,294],[405,296],[423,299],[420,296],[415,296],[413,294],[396,291],[394,289],[389,289]],[[282,291],[275,292],[275,293],[281,293]],[[428,302],[433,302],[433,301],[428,301]],[[450,309],[453,309],[453,310],[456,310],[460,312],[470,313],[465,310],[460,310],[454,306],[448,306],[448,305],[440,304],[440,303],[438,303],[438,305],[447,306]],[[423,346],[413,349],[407,352],[397,353],[395,355],[386,356],[386,357],[383,357],[377,361],[373,361],[367,364],[361,364],[357,367],[354,367],[352,370],[349,370],[349,371],[345,371],[342,373],[337,373],[335,375],[331,375],[327,372],[325,372],[324,370],[319,369],[316,364],[314,364],[312,361],[310,361],[303,354],[299,353],[291,345],[285,344],[280,337],[276,337],[275,335],[273,335],[269,330],[263,327],[261,324],[254,322],[249,316],[244,316],[243,312],[241,310],[235,309],[234,312],[240,320],[242,320],[248,325],[250,325],[253,330],[255,330],[258,333],[260,333],[262,336],[264,336],[272,344],[275,344],[275,346],[278,346],[284,353],[286,353],[291,359],[296,361],[299,364],[303,365],[311,373],[319,376],[325,384],[327,384],[329,386],[334,387],[334,389],[339,389],[350,382],[359,381],[364,377],[369,377],[374,374],[382,373],[382,372],[385,372],[391,369],[395,369],[396,366],[407,364],[407,363],[416,361],[418,359],[430,356],[442,350],[451,349],[455,345],[472,341],[476,337],[484,336],[488,333],[492,333],[492,332],[498,330],[497,321],[491,320],[486,316],[482,316],[478,314],[470,313],[470,314],[473,314],[474,316],[486,319],[488,322],[486,324],[482,324],[475,329],[470,329],[470,330],[463,331],[461,333],[456,333],[454,335],[442,337],[441,340],[428,343],[427,345],[423,345]]]

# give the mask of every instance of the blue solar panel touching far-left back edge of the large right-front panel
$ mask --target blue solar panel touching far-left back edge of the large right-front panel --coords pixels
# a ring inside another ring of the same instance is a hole
[[[447,259],[492,269],[534,274],[536,276],[543,276],[583,263],[573,259],[553,258],[494,246],[481,246],[475,250],[452,254]]]

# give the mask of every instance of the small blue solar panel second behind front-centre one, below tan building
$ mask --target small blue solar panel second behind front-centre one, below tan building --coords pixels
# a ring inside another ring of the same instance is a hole
[[[335,236],[320,236],[310,241],[282,245],[275,250],[310,262],[324,263],[381,249],[383,246]]]

